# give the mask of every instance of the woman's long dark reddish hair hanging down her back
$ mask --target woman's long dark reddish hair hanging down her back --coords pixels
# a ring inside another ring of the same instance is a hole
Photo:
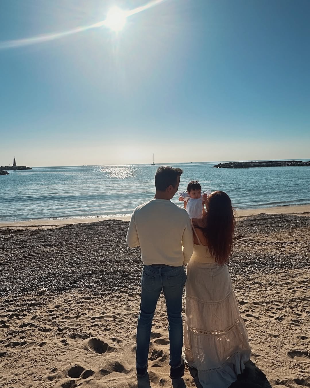
[[[234,210],[230,197],[223,191],[214,191],[206,204],[207,213],[199,223],[207,240],[207,247],[219,265],[227,264],[233,248],[235,231]]]

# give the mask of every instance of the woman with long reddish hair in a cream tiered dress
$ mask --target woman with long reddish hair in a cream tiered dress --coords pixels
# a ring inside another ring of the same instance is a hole
[[[194,253],[187,265],[183,357],[204,388],[227,388],[250,359],[247,330],[227,262],[235,218],[230,197],[214,191],[207,213],[193,219]]]

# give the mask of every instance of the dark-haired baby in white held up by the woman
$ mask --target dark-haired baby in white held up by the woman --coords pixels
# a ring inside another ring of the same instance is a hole
[[[207,190],[201,194],[201,186],[198,180],[191,180],[187,185],[187,191],[179,191],[179,201],[184,201],[184,208],[190,219],[202,218],[206,214],[204,202],[210,193],[211,191]]]

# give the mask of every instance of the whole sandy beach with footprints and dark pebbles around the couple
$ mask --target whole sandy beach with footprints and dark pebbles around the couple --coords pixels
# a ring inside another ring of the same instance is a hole
[[[252,356],[231,388],[309,387],[310,205],[236,215],[229,270]],[[137,381],[140,250],[128,220],[84,220],[0,224],[0,388],[199,388],[195,370],[169,378],[163,297]]]

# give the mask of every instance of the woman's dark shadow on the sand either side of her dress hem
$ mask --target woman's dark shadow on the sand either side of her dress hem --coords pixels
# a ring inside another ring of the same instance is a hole
[[[197,388],[202,388],[199,383],[197,369],[190,368],[190,374],[194,378]],[[237,381],[229,388],[271,388],[264,372],[262,372],[252,361],[245,363],[245,370],[238,375]]]

